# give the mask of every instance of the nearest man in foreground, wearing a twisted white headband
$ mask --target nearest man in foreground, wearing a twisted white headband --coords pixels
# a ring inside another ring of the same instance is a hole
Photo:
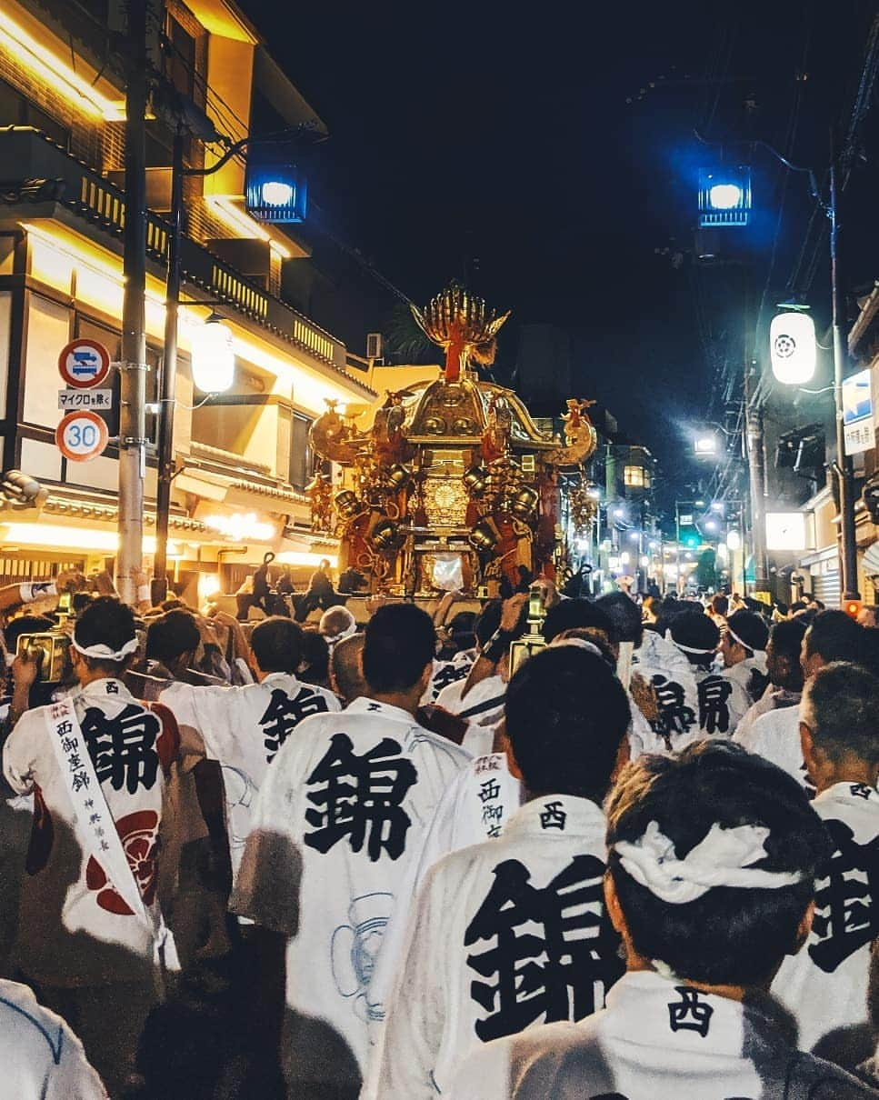
[[[831,850],[800,785],[730,741],[702,740],[629,763],[605,813],[605,902],[626,974],[606,1008],[576,1023],[474,1047],[443,1096],[875,1097],[798,1050],[768,996],[809,936]]]

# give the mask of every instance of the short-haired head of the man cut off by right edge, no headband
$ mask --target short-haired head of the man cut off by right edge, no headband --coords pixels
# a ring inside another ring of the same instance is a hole
[[[835,661],[812,676],[800,706],[800,734],[810,778],[825,790],[866,772],[879,774],[879,679],[859,664]],[[854,770],[853,770],[854,769]]]

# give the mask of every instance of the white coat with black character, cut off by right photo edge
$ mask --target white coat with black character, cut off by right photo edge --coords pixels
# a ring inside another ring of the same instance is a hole
[[[870,942],[879,934],[879,793],[835,783],[812,805],[835,850],[816,883],[805,947],[784,959],[772,983],[796,1016],[803,1050],[837,1027],[867,1023]]]

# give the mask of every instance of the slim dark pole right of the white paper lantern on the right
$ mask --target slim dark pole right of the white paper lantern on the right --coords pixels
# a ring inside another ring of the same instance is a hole
[[[858,592],[858,544],[855,532],[855,471],[851,455],[845,453],[843,421],[843,375],[846,363],[846,337],[843,332],[845,309],[839,287],[838,238],[836,209],[836,150],[831,148],[831,299],[833,305],[833,385],[836,402],[836,480],[839,487],[839,564],[843,601],[860,600]]]

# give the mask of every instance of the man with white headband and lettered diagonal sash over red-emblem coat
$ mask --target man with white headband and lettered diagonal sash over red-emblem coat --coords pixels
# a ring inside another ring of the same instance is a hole
[[[175,965],[156,886],[179,733],[167,708],[147,708],[125,688],[136,648],[131,608],[95,600],[73,635],[78,686],[23,714],[3,747],[7,782],[35,798],[15,960],[77,1032],[113,1097],[133,1070],[163,968]],[[18,683],[33,682],[36,669],[18,657]]]

